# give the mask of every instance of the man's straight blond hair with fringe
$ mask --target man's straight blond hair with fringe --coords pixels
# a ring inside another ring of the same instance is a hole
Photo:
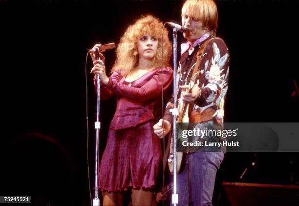
[[[199,19],[204,28],[215,36],[218,27],[218,11],[214,0],[187,0],[182,8],[182,16],[188,15]]]

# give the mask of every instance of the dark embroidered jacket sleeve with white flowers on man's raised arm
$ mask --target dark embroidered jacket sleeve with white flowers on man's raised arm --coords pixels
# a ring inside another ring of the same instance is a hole
[[[200,67],[200,75],[204,75],[205,81],[200,83],[201,95],[195,100],[195,104],[199,106],[212,103],[228,83],[229,52],[224,41],[212,41],[204,53],[207,54],[200,63],[203,65]]]

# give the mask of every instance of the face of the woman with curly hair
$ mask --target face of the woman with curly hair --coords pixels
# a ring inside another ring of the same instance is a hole
[[[158,38],[149,34],[142,35],[137,41],[139,59],[152,60],[157,53]]]

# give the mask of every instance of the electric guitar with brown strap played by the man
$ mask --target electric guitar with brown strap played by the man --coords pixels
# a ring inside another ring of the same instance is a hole
[[[189,87],[185,90],[185,93],[190,93],[192,88],[195,85],[196,80],[198,79],[199,76],[199,71],[195,72],[189,82]],[[198,83],[197,83],[198,85]],[[183,92],[181,92],[181,97],[178,103],[178,116],[177,116],[177,123],[188,123],[189,122],[189,103],[184,103],[182,101],[183,99],[183,94],[185,94]],[[169,146],[169,145],[168,145]],[[177,160],[177,172],[180,173],[182,168],[183,168],[183,164],[184,163],[184,159],[185,159],[185,152],[176,152],[176,160]],[[170,147],[170,154],[169,154],[169,158],[168,158],[168,167],[169,170],[171,172],[171,174],[173,174],[173,136],[171,137],[171,147]]]

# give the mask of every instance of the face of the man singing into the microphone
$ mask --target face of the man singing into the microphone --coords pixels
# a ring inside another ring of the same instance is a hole
[[[184,32],[184,37],[191,42],[199,39],[208,31],[207,28],[203,28],[202,22],[199,19],[189,16],[188,12],[182,14],[182,25],[191,30],[190,32]]]

